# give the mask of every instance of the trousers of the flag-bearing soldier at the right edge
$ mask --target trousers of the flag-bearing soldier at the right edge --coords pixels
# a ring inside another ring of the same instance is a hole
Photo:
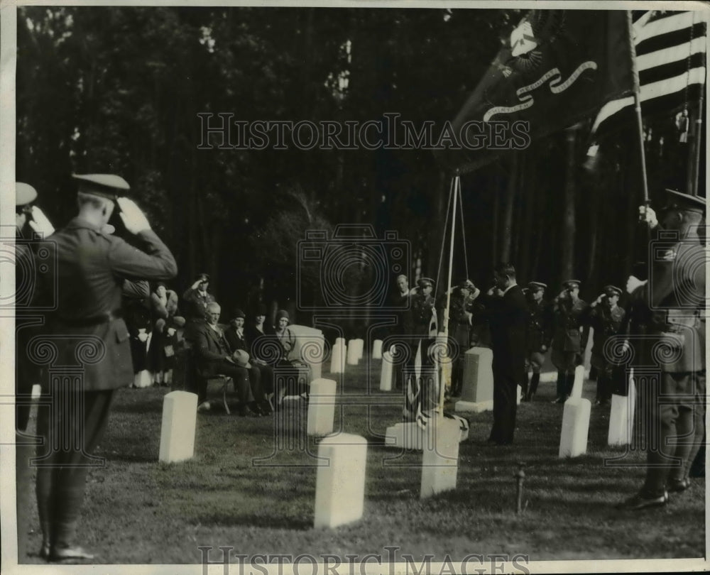
[[[668,481],[687,478],[703,433],[705,377],[699,372],[660,374],[640,392],[647,443],[642,493],[662,495]]]

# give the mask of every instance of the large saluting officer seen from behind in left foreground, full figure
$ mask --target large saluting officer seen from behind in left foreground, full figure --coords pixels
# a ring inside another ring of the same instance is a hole
[[[48,346],[55,366],[80,366],[81,377],[52,376],[43,382],[38,410],[37,507],[50,561],[93,559],[75,542],[92,452],[99,443],[116,388],[133,380],[129,332],[122,317],[125,280],[169,280],[175,258],[151,230],[141,209],[117,197],[129,190],[115,175],[75,175],[79,214],[52,236],[57,268],[42,278],[55,290],[57,307],[48,317]],[[143,250],[111,235],[115,204],[126,229]],[[55,337],[53,337],[55,336]],[[67,437],[67,433],[71,437]],[[78,443],[78,445],[77,445]]]

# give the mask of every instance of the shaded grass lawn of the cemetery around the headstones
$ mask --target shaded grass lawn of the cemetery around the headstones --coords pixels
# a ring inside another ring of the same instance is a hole
[[[369,368],[375,386],[379,366],[373,361]],[[470,415],[456,491],[420,500],[421,454],[383,447],[378,437],[400,420],[398,393],[368,396],[368,367],[361,362],[348,369],[344,379],[332,376],[344,392],[335,425],[370,443],[361,521],[334,530],[312,527],[317,444],[305,431],[295,432],[302,441],[293,449],[275,450],[273,417],[228,416],[216,405],[198,414],[195,457],[160,464],[168,389],[123,389],[99,447],[105,466],[89,473],[80,542],[108,564],[200,563],[201,546],[214,547],[210,559],[218,561],[221,546],[249,555],[337,554],[344,563],[346,554],[387,557],[386,546],[399,547],[399,557],[420,560],[428,553],[435,561],[471,553],[526,554],[531,561],[704,556],[703,479],[665,508],[613,508],[638,490],[645,458],[632,452],[623,460],[627,466],[605,466],[605,459],[623,454],[606,446],[608,407],[592,408],[588,453],[567,460],[557,458],[562,406],[550,403],[554,383],[541,383],[535,401],[518,407],[513,446],[485,444],[491,412]],[[594,398],[595,385],[585,383],[585,397]],[[212,393],[217,397],[216,389]],[[305,414],[300,402],[290,402],[281,417],[297,430],[305,429]],[[516,515],[519,461],[526,464],[526,508]],[[42,563],[34,502],[30,514],[25,562]]]

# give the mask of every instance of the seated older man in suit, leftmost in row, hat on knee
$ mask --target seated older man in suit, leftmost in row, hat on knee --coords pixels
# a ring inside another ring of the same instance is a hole
[[[263,415],[261,405],[266,401],[258,378],[249,378],[246,367],[240,366],[234,360],[234,350],[224,338],[224,332],[219,327],[219,316],[222,308],[217,302],[209,302],[204,314],[204,322],[192,325],[190,341],[195,350],[197,376],[197,409],[209,410],[207,403],[207,380],[214,376],[229,376],[234,381],[234,388],[239,396],[241,416]]]

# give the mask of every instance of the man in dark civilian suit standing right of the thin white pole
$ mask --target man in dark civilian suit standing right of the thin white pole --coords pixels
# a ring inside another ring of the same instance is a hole
[[[513,265],[498,264],[493,277],[496,285],[486,295],[478,297],[484,306],[482,313],[491,325],[493,349],[493,428],[488,442],[509,445],[515,433],[518,383],[525,377],[528,303],[523,290],[515,283]],[[494,295],[496,288],[503,295]]]

